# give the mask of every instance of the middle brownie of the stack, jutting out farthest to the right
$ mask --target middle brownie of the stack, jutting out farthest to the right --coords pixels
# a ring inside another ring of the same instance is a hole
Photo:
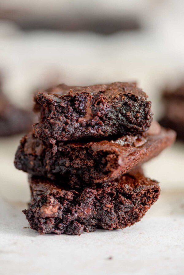
[[[175,132],[152,123],[147,133],[98,142],[56,142],[52,145],[30,133],[21,139],[15,167],[35,176],[66,182],[73,188],[115,179],[135,165],[157,156],[175,140]]]

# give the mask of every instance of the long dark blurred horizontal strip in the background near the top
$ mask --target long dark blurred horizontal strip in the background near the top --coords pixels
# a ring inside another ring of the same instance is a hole
[[[73,6],[75,9],[75,5]],[[74,11],[74,10],[73,10]],[[44,10],[40,13],[36,10],[33,13],[27,8],[16,9],[14,7],[2,8],[0,10],[0,19],[10,20],[15,22],[23,30],[59,30],[62,32],[94,32],[100,34],[113,34],[120,31],[132,31],[140,30],[142,28],[142,21],[135,14],[125,14],[123,11],[121,15],[100,12],[90,13],[87,10],[85,12],[80,12],[76,10],[71,13],[71,8],[60,13],[53,11],[50,14],[45,11],[45,16],[43,16]],[[74,16],[75,15],[75,16]]]

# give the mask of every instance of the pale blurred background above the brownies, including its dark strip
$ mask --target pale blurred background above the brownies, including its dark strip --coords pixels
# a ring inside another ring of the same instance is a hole
[[[57,83],[136,81],[155,117],[160,91],[182,80],[182,0],[0,1],[3,91],[20,106]],[[161,109],[159,109],[161,111]]]

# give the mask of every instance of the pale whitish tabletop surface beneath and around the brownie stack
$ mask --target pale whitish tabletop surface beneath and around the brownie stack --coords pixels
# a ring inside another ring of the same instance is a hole
[[[145,165],[146,175],[160,181],[162,192],[139,223],[124,230],[57,236],[39,235],[21,212],[29,201],[29,188],[27,175],[13,167],[19,139],[0,140],[2,275],[184,273],[182,143]]]

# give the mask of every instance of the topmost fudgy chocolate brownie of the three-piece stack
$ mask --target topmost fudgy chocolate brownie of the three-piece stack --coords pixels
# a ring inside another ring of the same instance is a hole
[[[69,87],[61,84],[35,96],[40,122],[36,137],[56,141],[141,133],[152,121],[151,102],[135,83]]]

